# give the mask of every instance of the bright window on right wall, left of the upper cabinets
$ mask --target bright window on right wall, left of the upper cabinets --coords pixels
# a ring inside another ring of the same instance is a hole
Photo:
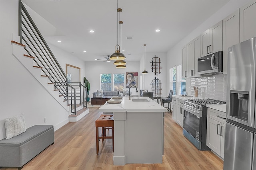
[[[181,65],[170,68],[170,90],[174,91],[174,95],[186,92],[186,78],[182,78]]]

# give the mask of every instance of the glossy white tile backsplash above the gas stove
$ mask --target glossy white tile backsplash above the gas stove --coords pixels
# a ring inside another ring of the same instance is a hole
[[[198,87],[199,98],[210,98],[221,101],[227,99],[227,75],[218,74],[212,77],[198,77],[186,80],[186,88],[190,90],[190,95],[195,96],[194,86]],[[189,92],[188,92],[189,94]]]

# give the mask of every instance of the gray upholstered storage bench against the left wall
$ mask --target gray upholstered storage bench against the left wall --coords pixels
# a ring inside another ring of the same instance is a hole
[[[23,168],[24,164],[54,143],[53,125],[34,125],[24,133],[0,141],[0,167]]]

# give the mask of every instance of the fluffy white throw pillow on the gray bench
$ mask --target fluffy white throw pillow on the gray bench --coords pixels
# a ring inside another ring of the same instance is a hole
[[[5,118],[6,139],[10,139],[26,131],[26,124],[23,114]]]

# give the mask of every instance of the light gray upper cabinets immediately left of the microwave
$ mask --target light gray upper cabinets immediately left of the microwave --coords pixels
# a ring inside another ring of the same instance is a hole
[[[200,58],[200,36],[182,48],[182,78],[199,77],[197,59]]]

